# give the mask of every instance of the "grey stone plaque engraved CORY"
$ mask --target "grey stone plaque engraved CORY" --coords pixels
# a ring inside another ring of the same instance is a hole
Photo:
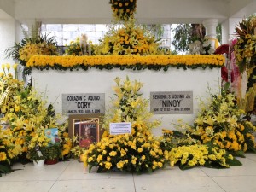
[[[105,94],[62,94],[63,114],[105,113]]]

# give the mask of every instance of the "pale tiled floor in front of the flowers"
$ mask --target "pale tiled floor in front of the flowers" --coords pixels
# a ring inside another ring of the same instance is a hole
[[[230,169],[195,167],[181,171],[166,167],[152,174],[88,173],[78,160],[36,167],[17,164],[0,177],[1,192],[255,192],[256,154],[239,158],[243,166]]]

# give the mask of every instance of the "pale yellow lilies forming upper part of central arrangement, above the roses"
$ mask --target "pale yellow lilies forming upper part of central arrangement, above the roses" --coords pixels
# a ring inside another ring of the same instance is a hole
[[[143,84],[137,80],[131,82],[128,77],[122,84],[119,77],[114,80],[116,86],[113,87],[113,90],[117,98],[113,101],[113,108],[105,114],[102,127],[108,132],[109,123],[131,122],[133,135],[138,133],[150,135],[148,131],[159,126],[160,122],[150,121],[153,114],[147,110],[148,100],[143,99],[139,94]]]

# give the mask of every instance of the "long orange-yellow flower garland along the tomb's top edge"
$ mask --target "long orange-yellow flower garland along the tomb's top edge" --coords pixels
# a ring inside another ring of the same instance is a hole
[[[213,68],[223,67],[223,55],[94,55],[94,56],[44,56],[34,55],[26,63],[26,67],[43,69],[73,70],[91,67],[98,69],[130,68],[134,70],[177,68]]]

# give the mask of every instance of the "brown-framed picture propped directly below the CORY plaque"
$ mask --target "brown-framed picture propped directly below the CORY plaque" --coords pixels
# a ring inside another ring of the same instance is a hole
[[[68,134],[77,137],[74,146],[88,148],[102,137],[102,114],[79,114],[69,116]]]

